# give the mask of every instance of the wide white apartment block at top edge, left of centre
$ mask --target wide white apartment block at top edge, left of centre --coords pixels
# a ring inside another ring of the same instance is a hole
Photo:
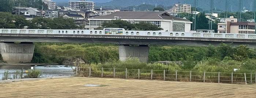
[[[81,1],[69,1],[68,6],[73,9],[95,9],[95,3],[91,1],[81,0]]]

